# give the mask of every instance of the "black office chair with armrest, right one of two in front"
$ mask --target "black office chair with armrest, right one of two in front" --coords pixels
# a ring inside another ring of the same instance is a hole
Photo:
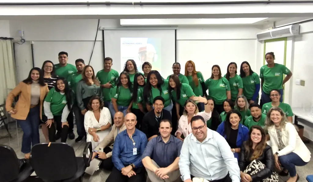
[[[86,157],[89,149],[89,158]],[[92,145],[87,142],[83,157],[76,157],[72,146],[66,143],[39,143],[33,146],[30,164],[36,175],[46,182],[82,181],[83,174],[90,166]]]

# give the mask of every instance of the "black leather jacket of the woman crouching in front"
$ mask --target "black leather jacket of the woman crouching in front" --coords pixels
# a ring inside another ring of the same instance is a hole
[[[244,169],[252,162],[250,160],[250,157],[252,155],[249,154],[249,156],[245,155],[245,148],[244,144],[241,146],[240,155],[239,155],[239,168],[240,171],[244,171]],[[266,144],[266,147],[264,148],[264,151],[262,155],[257,158],[260,162],[262,162],[265,165],[265,168],[260,170],[258,173],[251,175],[252,181],[262,181],[265,178],[268,178],[270,175],[273,174],[275,171],[274,166],[274,154],[272,148]]]

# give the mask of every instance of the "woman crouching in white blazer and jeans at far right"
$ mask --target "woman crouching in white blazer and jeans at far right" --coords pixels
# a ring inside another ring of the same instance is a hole
[[[299,175],[295,166],[306,165],[311,158],[311,153],[302,142],[295,126],[288,122],[284,111],[279,107],[272,107],[266,115],[265,126],[269,133],[275,166],[283,170],[281,176],[290,174],[288,182],[296,182]]]

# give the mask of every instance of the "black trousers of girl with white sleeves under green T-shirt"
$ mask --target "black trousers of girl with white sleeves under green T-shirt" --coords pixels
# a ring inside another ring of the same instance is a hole
[[[62,122],[61,118],[62,116],[54,116],[54,122],[51,124],[50,128],[48,127],[48,133],[49,133],[49,141],[55,142],[55,125],[56,129],[61,132],[61,142],[66,142],[67,135],[69,134],[69,127],[63,126],[62,128]]]

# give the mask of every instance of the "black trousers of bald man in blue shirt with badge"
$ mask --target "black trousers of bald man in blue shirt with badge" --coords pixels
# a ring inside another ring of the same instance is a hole
[[[108,179],[105,182],[144,182],[146,169],[144,167],[134,169],[136,175],[131,176],[124,176],[120,170],[113,167],[111,174],[109,175]]]

